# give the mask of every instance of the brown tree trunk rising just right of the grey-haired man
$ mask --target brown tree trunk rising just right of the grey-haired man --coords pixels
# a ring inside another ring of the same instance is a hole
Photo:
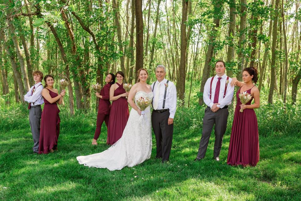
[[[180,68],[177,80],[177,92],[179,94],[179,99],[182,100],[182,105],[185,104],[185,80],[186,80],[186,46],[187,46],[187,38],[186,38],[186,20],[187,20],[187,12],[188,12],[188,1],[182,0],[182,22],[181,22],[181,60],[180,60]]]

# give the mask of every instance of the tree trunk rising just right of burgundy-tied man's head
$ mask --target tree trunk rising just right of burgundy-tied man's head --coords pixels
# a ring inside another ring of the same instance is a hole
[[[228,65],[230,63],[234,63],[233,59],[234,59],[234,49],[235,49],[234,41],[235,41],[235,29],[236,29],[236,26],[235,26],[235,23],[236,23],[236,0],[230,0],[229,7],[230,7],[229,31],[228,31],[229,45],[228,45],[228,51],[227,51]],[[232,67],[234,67],[234,66],[231,65],[230,68],[232,68]],[[232,70],[228,69],[227,75],[229,77],[232,77],[233,76]]]

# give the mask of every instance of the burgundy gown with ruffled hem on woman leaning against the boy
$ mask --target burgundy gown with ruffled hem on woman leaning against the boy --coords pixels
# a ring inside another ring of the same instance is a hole
[[[47,90],[51,98],[57,96],[57,93],[49,89]],[[60,110],[56,102],[50,103],[44,98],[44,103],[45,105],[41,116],[39,154],[48,154],[50,149],[56,149],[60,134]]]

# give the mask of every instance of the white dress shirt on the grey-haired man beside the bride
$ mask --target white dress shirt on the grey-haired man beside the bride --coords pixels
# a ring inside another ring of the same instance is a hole
[[[160,87],[160,95],[159,95],[159,101],[158,101],[158,108],[157,110],[162,110],[163,109],[163,99],[164,99],[164,93],[165,93],[165,88],[166,88],[166,82],[167,79],[163,79],[161,81],[161,84],[164,84]],[[156,97],[156,89],[158,87],[159,81],[157,80],[155,83],[155,88],[154,84],[151,85],[151,89],[154,92],[154,96]],[[153,89],[154,88],[154,89]],[[153,98],[154,101],[154,98]],[[165,100],[165,106],[164,109],[169,109],[169,118],[174,118],[176,114],[176,109],[177,109],[177,90],[175,84],[173,84],[171,81],[168,82],[168,87],[166,89],[166,100]]]

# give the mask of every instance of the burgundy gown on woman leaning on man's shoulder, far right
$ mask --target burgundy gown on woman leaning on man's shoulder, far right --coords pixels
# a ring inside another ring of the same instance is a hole
[[[251,89],[246,92],[251,94]],[[243,112],[240,112],[239,93],[240,89],[236,93],[237,104],[232,124],[227,164],[232,166],[256,166],[259,161],[257,118],[254,109],[244,109]],[[246,105],[251,105],[252,99]]]

